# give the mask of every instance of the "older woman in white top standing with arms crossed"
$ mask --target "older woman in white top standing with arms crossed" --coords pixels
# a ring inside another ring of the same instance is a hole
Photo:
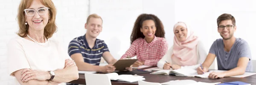
[[[57,27],[52,0],[21,0],[18,37],[7,45],[9,74],[15,85],[58,85],[78,79],[75,62],[51,39]]]

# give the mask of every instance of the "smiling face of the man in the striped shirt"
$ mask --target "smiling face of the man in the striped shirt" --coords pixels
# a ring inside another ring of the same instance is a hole
[[[102,20],[100,18],[91,17],[88,23],[85,23],[86,34],[96,38],[102,31]]]

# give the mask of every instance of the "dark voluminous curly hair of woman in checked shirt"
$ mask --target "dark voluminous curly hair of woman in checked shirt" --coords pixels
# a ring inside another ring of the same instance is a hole
[[[134,23],[134,27],[131,33],[131,44],[134,40],[138,38],[144,38],[145,36],[143,35],[142,32],[140,32],[140,28],[142,28],[143,21],[145,20],[153,20],[155,23],[155,26],[157,28],[155,32],[156,37],[163,37],[165,38],[165,31],[163,28],[163,23],[162,21],[155,15],[153,14],[140,14],[140,16],[137,18],[137,20]]]

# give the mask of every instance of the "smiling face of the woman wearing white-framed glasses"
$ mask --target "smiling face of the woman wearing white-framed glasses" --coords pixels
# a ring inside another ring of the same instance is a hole
[[[36,30],[36,31],[43,31],[45,26],[47,25],[48,21],[50,20],[50,14],[49,14],[49,10],[44,10],[44,9],[40,9],[40,8],[45,8],[46,6],[44,6],[40,0],[33,0],[33,2],[31,3],[31,6],[29,6],[29,8],[27,9],[34,9],[35,11],[35,15],[34,16],[28,16],[25,12],[25,18],[26,18],[26,22],[29,25],[29,29],[30,30]],[[39,12],[41,11],[46,11],[47,13],[44,15],[39,15],[37,10],[39,10]],[[32,11],[26,11],[28,12],[32,12]]]

